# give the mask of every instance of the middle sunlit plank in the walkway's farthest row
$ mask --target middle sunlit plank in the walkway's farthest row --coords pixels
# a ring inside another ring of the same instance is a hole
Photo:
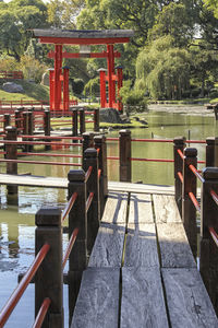
[[[131,194],[129,223],[153,223],[152,197],[146,194]]]

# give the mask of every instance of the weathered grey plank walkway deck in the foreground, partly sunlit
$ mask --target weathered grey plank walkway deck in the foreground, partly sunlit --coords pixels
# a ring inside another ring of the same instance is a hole
[[[218,327],[173,196],[109,194],[75,327]]]

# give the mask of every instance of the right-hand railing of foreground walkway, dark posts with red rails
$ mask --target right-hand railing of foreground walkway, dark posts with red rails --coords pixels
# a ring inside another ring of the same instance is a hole
[[[199,271],[214,306],[218,301],[218,168],[214,165],[211,140],[207,148],[210,167],[197,171],[197,150],[185,148],[183,138],[174,139],[175,201],[194,256],[197,255],[196,212],[201,215]],[[197,200],[197,179],[202,185]]]

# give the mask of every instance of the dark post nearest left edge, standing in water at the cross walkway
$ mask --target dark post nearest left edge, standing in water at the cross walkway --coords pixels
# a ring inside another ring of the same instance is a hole
[[[16,128],[7,127],[5,140],[16,141]],[[5,144],[5,159],[7,160],[17,160],[17,145],[16,144]],[[17,163],[9,162],[7,163],[7,174],[17,174]],[[9,195],[17,195],[17,186],[7,186]]]

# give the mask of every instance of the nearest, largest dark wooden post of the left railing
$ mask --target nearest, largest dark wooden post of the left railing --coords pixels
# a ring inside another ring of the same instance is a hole
[[[50,249],[35,277],[35,315],[46,297],[51,300],[41,327],[63,327],[62,227],[59,208],[41,208],[36,213],[36,255],[48,244]]]

